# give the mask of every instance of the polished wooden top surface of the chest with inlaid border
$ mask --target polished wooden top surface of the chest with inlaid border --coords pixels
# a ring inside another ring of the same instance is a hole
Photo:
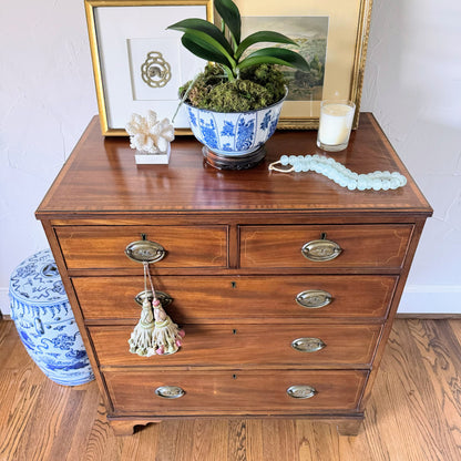
[[[361,114],[346,151],[327,154],[361,174],[400,172],[408,184],[396,191],[348,191],[309,173],[269,172],[281,155],[325,152],[316,131],[277,131],[267,142],[266,158],[244,172],[204,164],[201,144],[189,136],[172,143],[168,165],[136,165],[127,137],[101,135],[96,117],[59,173],[37,217],[151,215],[152,213],[360,213],[430,215],[431,208],[392,150],[375,117]]]

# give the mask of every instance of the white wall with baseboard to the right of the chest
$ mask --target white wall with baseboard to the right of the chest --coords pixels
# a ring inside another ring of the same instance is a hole
[[[461,314],[461,2],[375,0],[362,110],[434,209],[402,313]]]

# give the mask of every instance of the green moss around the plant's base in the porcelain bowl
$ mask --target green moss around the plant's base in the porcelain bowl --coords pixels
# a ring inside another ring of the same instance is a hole
[[[181,94],[189,85],[187,82]],[[273,64],[246,69],[233,82],[227,81],[219,66],[209,64],[196,79],[186,102],[216,112],[246,112],[274,104],[284,94],[284,75]]]

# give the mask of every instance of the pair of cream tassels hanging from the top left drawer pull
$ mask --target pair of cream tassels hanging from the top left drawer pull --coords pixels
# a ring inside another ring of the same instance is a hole
[[[153,295],[152,303],[147,297],[147,278]],[[154,354],[174,354],[182,346],[184,336],[184,330],[173,322],[157,299],[148,272],[148,263],[144,263],[143,310],[141,319],[129,339],[130,352],[143,357],[151,357]]]

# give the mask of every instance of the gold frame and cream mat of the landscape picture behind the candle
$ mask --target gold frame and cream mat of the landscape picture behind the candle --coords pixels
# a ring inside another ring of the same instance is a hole
[[[285,33],[291,39],[308,40],[309,37],[314,37],[314,30],[303,31],[300,19],[327,19],[325,55],[320,57],[320,60],[325,60],[321,98],[318,98],[319,91],[311,91],[310,94],[316,93],[316,95],[311,95],[310,100],[304,96],[304,100],[285,101],[277,127],[316,130],[319,122],[320,100],[336,99],[356,103],[352,127],[357,129],[372,0],[234,1],[240,10],[243,37],[253,32],[250,28],[246,29],[245,23],[250,24],[252,21],[258,20],[255,28],[259,30],[267,24],[269,30]],[[293,24],[291,30],[290,24]],[[305,58],[308,60],[308,57]]]

